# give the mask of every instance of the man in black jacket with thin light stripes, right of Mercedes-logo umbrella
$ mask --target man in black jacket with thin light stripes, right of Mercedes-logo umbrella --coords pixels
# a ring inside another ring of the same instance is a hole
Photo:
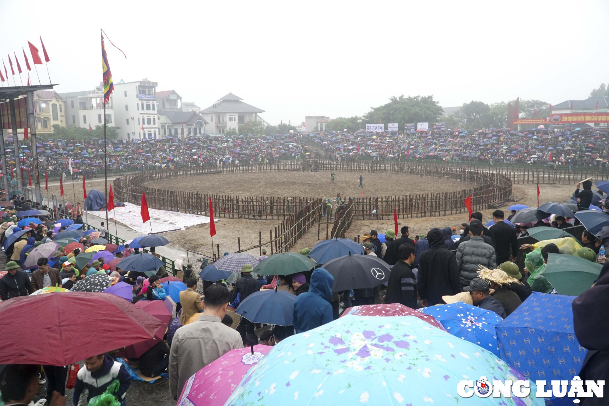
[[[410,308],[417,308],[417,280],[412,272],[415,251],[414,245],[400,246],[399,260],[389,274],[385,303],[401,303]]]

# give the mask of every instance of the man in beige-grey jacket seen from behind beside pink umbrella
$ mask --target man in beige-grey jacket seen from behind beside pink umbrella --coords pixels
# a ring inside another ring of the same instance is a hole
[[[175,332],[169,354],[169,390],[174,400],[195,372],[231,349],[243,347],[241,334],[222,324],[229,297],[226,287],[211,285],[205,290],[205,313]]]

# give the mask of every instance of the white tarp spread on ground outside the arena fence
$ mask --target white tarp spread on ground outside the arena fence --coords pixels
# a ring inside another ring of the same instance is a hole
[[[197,224],[209,223],[209,217],[192,215],[187,213],[169,212],[167,210],[157,210],[149,208],[150,220],[146,224],[142,223],[140,215],[141,206],[125,203],[125,207],[116,207],[108,212],[108,218],[114,219],[116,213],[116,221],[125,224],[130,229],[136,230],[143,234],[150,233],[150,223],[152,222],[152,232],[160,233],[163,231],[185,229],[186,227],[196,226]],[[88,212],[89,215],[98,216],[102,219],[106,218],[106,212]],[[112,220],[110,220],[112,223]],[[109,224],[106,225],[108,227]]]

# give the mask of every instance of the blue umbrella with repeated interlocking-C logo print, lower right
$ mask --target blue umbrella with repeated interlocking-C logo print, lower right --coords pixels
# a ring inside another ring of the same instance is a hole
[[[573,379],[588,351],[579,344],[573,329],[571,304],[575,298],[533,291],[496,326],[501,359],[518,365],[519,371],[530,377]],[[560,404],[555,397],[548,401]]]

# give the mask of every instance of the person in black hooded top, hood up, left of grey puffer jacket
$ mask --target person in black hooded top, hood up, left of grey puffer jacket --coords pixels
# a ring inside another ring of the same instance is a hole
[[[444,233],[433,228],[427,240],[429,249],[420,254],[418,262],[417,287],[423,306],[443,303],[442,296],[459,293],[459,269],[455,255],[444,246]]]

